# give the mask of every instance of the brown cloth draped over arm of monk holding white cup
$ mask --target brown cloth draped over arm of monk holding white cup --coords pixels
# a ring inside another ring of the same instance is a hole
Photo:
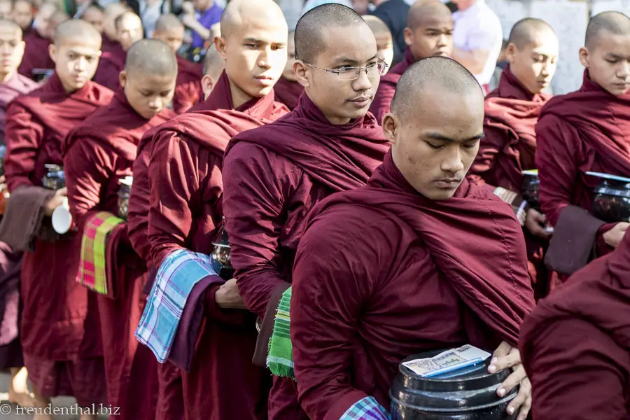
[[[0,223],[0,241],[16,251],[35,251],[35,239],[55,241],[50,218],[44,218],[44,205],[55,191],[38,186],[24,186],[13,193]]]

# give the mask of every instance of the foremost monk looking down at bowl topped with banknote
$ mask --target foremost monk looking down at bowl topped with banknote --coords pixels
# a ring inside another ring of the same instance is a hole
[[[517,418],[526,418],[531,386],[516,344],[534,300],[521,228],[498,197],[465,181],[483,103],[461,64],[413,64],[383,121],[392,143],[383,165],[367,186],[332,195],[307,218],[290,338],[310,419],[353,419],[360,405],[361,418],[386,419],[402,359],[469,343],[499,345],[489,370],[516,370],[498,396],[520,383],[507,413],[522,405]]]

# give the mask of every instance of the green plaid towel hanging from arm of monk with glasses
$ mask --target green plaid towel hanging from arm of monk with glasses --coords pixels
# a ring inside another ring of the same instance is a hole
[[[282,293],[276,318],[274,321],[274,332],[269,340],[269,355],[267,356],[267,366],[272,374],[279,377],[289,377],[295,379],[293,373],[293,345],[291,344],[290,331],[290,309],[291,288]]]

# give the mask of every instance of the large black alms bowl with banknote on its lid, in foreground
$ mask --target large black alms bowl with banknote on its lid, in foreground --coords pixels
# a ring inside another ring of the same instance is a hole
[[[442,350],[416,354],[402,362],[430,358]],[[513,420],[505,411],[517,395],[518,388],[503,398],[496,395],[498,386],[510,374],[507,370],[488,373],[490,359],[464,368],[456,376],[423,378],[399,365],[398,375],[389,391],[392,420]],[[452,372],[451,372],[452,374]],[[446,375],[443,375],[446,376]]]

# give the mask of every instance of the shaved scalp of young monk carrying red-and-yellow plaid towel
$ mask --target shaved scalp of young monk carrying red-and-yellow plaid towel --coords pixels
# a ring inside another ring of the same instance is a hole
[[[177,59],[169,45],[157,39],[142,39],[127,51],[125,72],[129,77],[177,74]]]

